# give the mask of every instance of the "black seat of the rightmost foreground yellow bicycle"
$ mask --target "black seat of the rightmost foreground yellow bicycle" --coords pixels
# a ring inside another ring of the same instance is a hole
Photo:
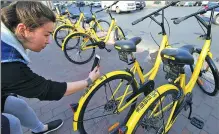
[[[162,61],[164,64],[171,62],[173,64],[192,65],[194,63],[194,58],[188,48],[166,48],[161,51]]]

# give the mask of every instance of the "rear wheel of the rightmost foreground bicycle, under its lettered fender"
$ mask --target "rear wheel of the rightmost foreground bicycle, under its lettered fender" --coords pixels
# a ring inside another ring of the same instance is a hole
[[[155,91],[156,92],[156,91]],[[159,90],[158,90],[159,92]],[[153,94],[153,93],[151,93]],[[151,95],[149,94],[149,96]],[[150,104],[146,106],[145,112],[140,115],[140,119],[134,127],[134,132],[136,134],[163,134],[167,133],[171,127],[166,126],[170,118],[171,112],[174,110],[173,106],[176,103],[175,97],[178,91],[175,89],[169,89],[159,96],[151,97],[148,100],[148,96],[136,107],[136,109],[141,109],[145,102]],[[171,119],[173,120],[173,119]],[[165,130],[167,128],[168,130]]]

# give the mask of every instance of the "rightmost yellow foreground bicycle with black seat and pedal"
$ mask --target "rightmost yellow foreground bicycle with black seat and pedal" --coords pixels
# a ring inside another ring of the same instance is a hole
[[[191,15],[175,18],[174,24],[194,16],[206,29],[207,33],[203,36],[205,43],[202,49],[182,49],[182,48],[167,48],[161,51],[162,61],[164,63],[164,71],[166,78],[170,84],[160,86],[147,95],[136,107],[126,125],[117,129],[116,132],[134,134],[134,133],[158,133],[166,134],[173,126],[178,114],[183,110],[190,109],[188,119],[195,127],[202,129],[204,122],[196,117],[191,118],[192,112],[192,90],[199,77],[207,71],[211,71],[212,76],[206,77],[208,81],[214,82],[211,90],[208,90],[209,95],[216,95],[219,89],[219,72],[213,60],[211,47],[211,24],[213,20],[214,10],[218,5],[203,9]],[[198,16],[207,11],[211,11],[210,22],[207,24]],[[193,65],[193,53],[199,53],[194,72],[186,84],[185,65]],[[206,70],[202,70],[204,67]],[[210,86],[208,87],[210,88]],[[207,91],[206,91],[207,92]]]

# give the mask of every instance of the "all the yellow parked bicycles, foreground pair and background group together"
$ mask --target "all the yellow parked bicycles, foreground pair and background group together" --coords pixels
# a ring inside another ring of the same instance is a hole
[[[128,65],[132,65],[131,68],[125,70],[104,74],[86,89],[78,103],[70,104],[74,112],[73,128],[75,131],[78,130],[81,134],[166,134],[183,110],[189,110],[188,119],[192,125],[199,129],[203,128],[204,121],[197,117],[191,117],[192,99],[195,96],[192,91],[196,83],[209,96],[217,95],[219,90],[219,72],[210,51],[212,45],[211,25],[214,10],[219,7],[219,4],[184,17],[172,18],[174,24],[179,24],[195,17],[204,31],[204,34],[199,37],[205,41],[202,48],[195,48],[192,45],[173,48],[168,42],[168,35],[164,27],[164,21],[167,20],[164,13],[165,9],[175,6],[177,3],[171,2],[132,22],[132,25],[136,25],[150,18],[162,30],[159,33],[162,35],[162,41],[156,61],[147,73],[144,73],[143,67],[133,54],[136,52],[136,46],[141,42],[141,38],[126,39],[122,29],[116,25],[115,19],[110,13],[111,23],[107,35],[104,37],[99,37],[97,31],[98,28],[102,30],[100,22],[107,22],[97,20],[94,14],[86,22],[90,24],[88,28],[84,23],[82,26],[80,25],[80,21],[84,17],[81,13],[80,16],[72,16],[72,18],[79,17],[74,25],[69,22],[55,30],[53,37],[59,47],[64,50],[65,55],[67,55],[67,51],[73,49],[77,49],[78,55],[84,50],[92,50],[91,56],[87,60],[71,61],[76,64],[84,64],[91,60],[96,47],[108,50],[105,43],[110,32],[115,30],[118,41],[115,42],[114,47],[118,51],[119,58]],[[207,11],[211,11],[209,22],[205,22],[199,16]],[[162,18],[161,22],[157,20],[157,17]],[[62,28],[69,31],[64,40],[57,36],[57,30]],[[76,37],[82,38],[82,43],[79,43],[79,38],[75,39],[74,43],[68,43],[70,39]],[[60,43],[58,43],[59,40],[61,40]],[[86,44],[88,40],[91,42],[90,44]],[[197,55],[198,58],[195,59],[194,55]],[[186,82],[188,77],[186,77],[185,66],[189,66],[191,70],[188,83]],[[168,84],[155,87],[154,80],[161,67],[165,72],[164,78]]]

